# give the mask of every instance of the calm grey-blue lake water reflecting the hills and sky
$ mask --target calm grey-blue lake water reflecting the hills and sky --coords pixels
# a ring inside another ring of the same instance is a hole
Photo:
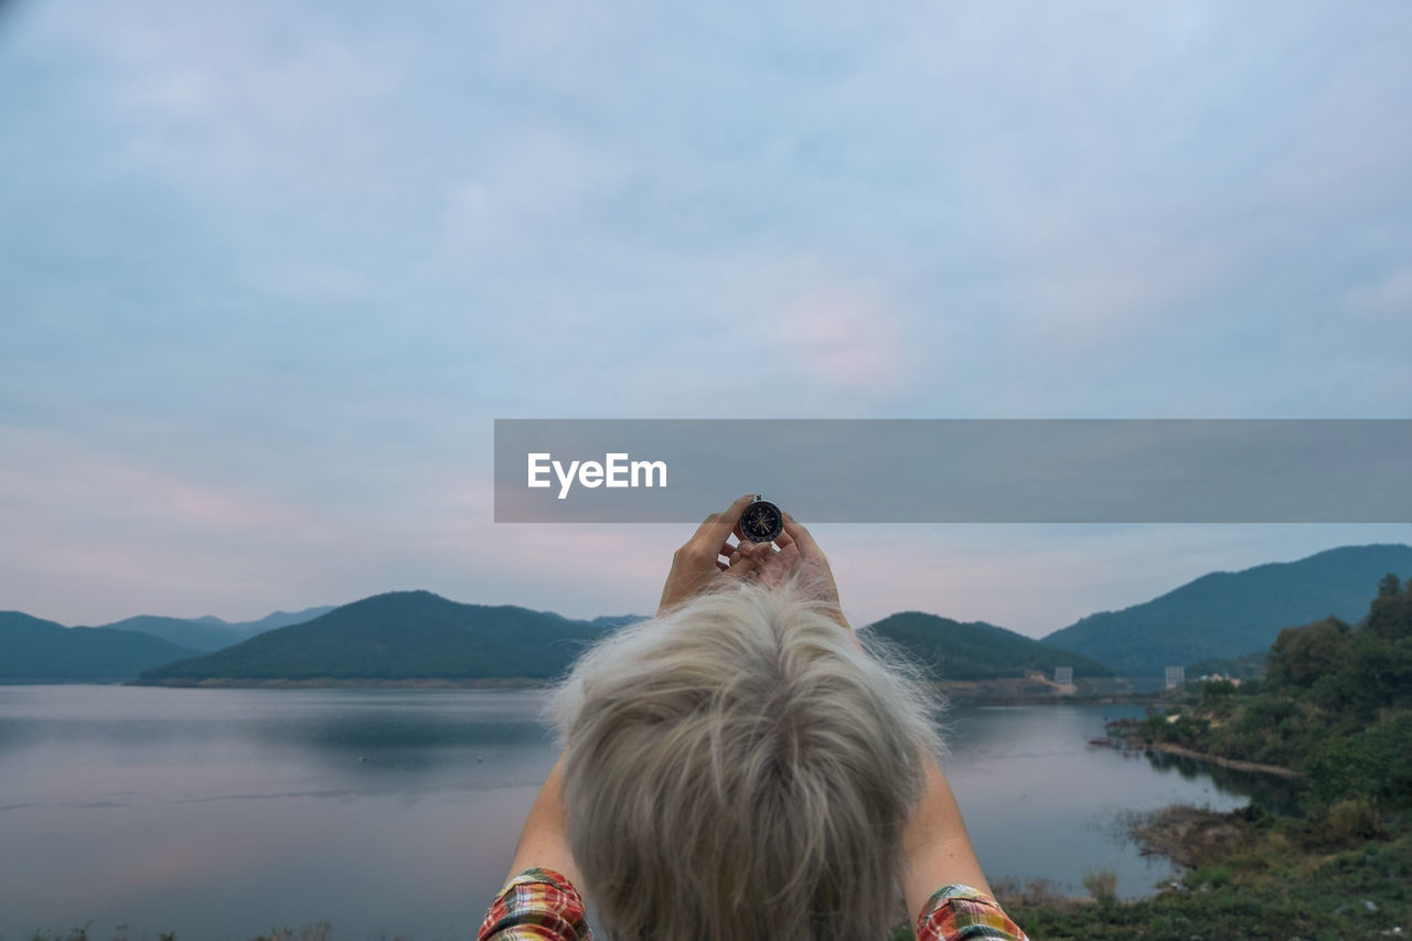
[[[0,938],[472,938],[554,764],[535,692],[0,687]],[[947,777],[987,876],[1120,894],[1171,873],[1115,825],[1238,777],[1091,749],[1141,706],[957,708]]]

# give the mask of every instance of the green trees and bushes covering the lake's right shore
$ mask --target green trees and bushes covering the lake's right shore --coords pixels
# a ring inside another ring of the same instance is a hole
[[[1192,684],[1137,736],[1300,774],[1298,812],[1173,807],[1134,821],[1186,868],[1132,903],[997,883],[1034,938],[1385,938],[1412,934],[1412,582],[1367,619],[1279,633],[1262,681]]]

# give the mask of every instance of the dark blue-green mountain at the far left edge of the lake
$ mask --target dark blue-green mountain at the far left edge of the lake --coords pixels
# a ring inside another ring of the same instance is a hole
[[[193,653],[136,630],[65,627],[17,610],[0,612],[0,682],[128,680]]]

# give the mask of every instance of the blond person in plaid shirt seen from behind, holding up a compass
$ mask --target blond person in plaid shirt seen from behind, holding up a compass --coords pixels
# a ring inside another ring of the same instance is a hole
[[[936,756],[936,699],[860,639],[829,562],[744,496],[672,557],[657,616],[552,692],[563,753],[479,941],[1025,940]],[[731,543],[731,537],[737,541]]]

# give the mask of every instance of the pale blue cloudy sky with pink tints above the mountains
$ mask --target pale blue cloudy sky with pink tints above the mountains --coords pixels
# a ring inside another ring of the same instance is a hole
[[[0,609],[650,613],[692,527],[493,523],[496,418],[1412,417],[1409,34],[0,3]],[[724,502],[761,461],[720,455]],[[815,535],[856,622],[1042,636],[1412,524]]]

